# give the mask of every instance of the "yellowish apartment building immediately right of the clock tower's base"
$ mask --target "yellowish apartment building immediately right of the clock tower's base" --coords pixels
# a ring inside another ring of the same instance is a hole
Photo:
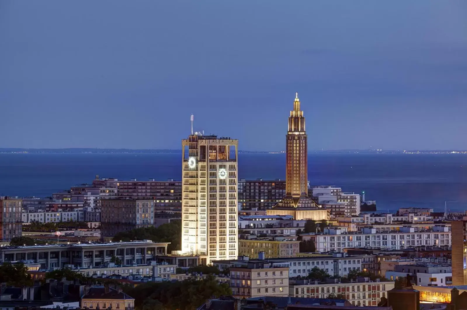
[[[238,254],[249,256],[251,259],[259,257],[263,252],[266,258],[296,257],[300,252],[300,241],[296,236],[240,239]]]

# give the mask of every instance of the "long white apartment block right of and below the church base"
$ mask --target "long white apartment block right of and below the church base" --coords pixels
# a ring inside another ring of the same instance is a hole
[[[450,227],[433,226],[430,230],[415,232],[414,227],[396,231],[380,231],[365,227],[361,231],[344,233],[341,228],[326,228],[323,234],[302,234],[302,240],[311,239],[319,252],[342,252],[345,248],[381,248],[397,250],[416,246],[451,246]]]

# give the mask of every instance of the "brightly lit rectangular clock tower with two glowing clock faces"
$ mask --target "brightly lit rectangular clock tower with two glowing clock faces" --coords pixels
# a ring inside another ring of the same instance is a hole
[[[195,133],[182,151],[182,253],[237,258],[238,140]]]

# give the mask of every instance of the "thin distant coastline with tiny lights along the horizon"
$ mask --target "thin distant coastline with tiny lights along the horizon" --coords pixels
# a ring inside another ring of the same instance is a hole
[[[98,149],[98,148],[63,148],[63,149],[27,149],[0,148],[0,154],[181,154],[181,150],[171,149]],[[245,151],[240,154],[284,154],[285,151]],[[321,150],[309,151],[309,154],[467,154],[465,150]]]

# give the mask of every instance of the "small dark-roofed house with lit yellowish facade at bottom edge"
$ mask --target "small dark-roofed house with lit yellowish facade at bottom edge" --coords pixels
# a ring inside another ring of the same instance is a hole
[[[121,287],[85,287],[81,308],[134,310],[134,298],[125,294]]]

